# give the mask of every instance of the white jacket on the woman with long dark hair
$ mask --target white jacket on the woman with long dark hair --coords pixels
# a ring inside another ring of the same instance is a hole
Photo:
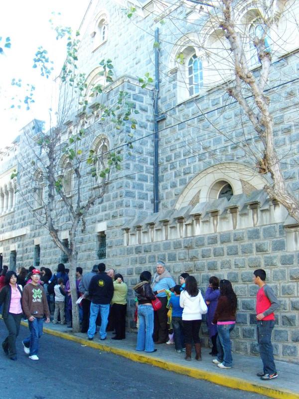
[[[190,296],[187,291],[182,291],[179,296],[179,305],[183,308],[182,320],[201,320],[207,313],[207,305],[200,290],[196,296]]]

